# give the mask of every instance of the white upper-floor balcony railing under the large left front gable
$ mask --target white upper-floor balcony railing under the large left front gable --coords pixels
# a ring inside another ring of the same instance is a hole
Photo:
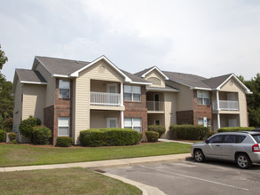
[[[120,93],[91,92],[91,105],[120,106]]]

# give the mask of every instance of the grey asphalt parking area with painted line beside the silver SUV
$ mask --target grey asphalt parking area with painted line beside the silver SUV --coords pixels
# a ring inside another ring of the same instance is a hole
[[[229,162],[186,160],[102,170],[152,185],[166,194],[260,194],[260,164],[242,170]]]

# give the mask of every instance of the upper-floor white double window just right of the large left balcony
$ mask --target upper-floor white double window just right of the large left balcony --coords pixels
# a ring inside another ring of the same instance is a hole
[[[135,85],[123,86],[123,100],[124,101],[141,101],[141,87]]]

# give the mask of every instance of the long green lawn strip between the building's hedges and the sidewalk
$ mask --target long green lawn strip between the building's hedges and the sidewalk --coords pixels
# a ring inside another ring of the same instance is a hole
[[[155,143],[114,147],[46,148],[0,144],[0,167],[114,160],[190,152],[190,144]]]

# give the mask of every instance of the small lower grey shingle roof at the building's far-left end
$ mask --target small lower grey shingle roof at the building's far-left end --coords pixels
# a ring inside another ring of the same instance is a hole
[[[16,69],[20,82],[47,83],[42,74],[35,70]]]

